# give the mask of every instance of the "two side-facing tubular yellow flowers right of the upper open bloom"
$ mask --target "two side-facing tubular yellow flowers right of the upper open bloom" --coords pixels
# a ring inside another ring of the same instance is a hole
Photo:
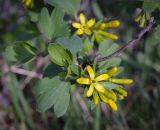
[[[102,40],[106,38],[111,38],[113,40],[117,40],[118,36],[112,33],[108,33],[104,31],[107,28],[117,28],[120,26],[120,21],[118,20],[112,20],[109,22],[102,22],[98,26],[97,30],[94,31],[95,38],[97,42],[101,42]]]

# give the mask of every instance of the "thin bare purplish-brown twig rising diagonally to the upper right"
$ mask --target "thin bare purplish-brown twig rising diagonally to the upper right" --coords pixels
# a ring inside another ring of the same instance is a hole
[[[149,24],[146,28],[144,28],[142,31],[140,31],[140,33],[137,35],[137,37],[135,39],[132,39],[131,41],[129,41],[128,43],[126,43],[124,46],[122,46],[119,50],[113,52],[112,54],[110,54],[109,56],[106,57],[99,57],[97,61],[101,62],[101,61],[105,61],[108,60],[112,57],[117,57],[120,56],[121,53],[128,47],[133,46],[134,44],[136,44],[137,41],[139,41],[147,32],[149,32],[152,28],[153,25],[155,24],[154,18],[151,17]]]

